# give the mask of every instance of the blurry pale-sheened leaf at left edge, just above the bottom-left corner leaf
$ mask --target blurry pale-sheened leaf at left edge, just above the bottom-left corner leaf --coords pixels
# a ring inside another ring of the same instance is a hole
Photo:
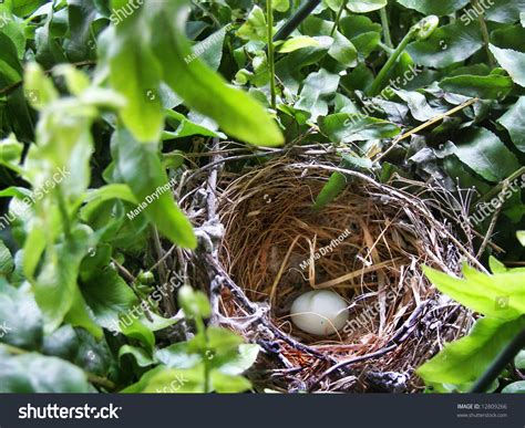
[[[0,279],[0,342],[23,349],[39,349],[43,322],[29,284],[19,289]]]

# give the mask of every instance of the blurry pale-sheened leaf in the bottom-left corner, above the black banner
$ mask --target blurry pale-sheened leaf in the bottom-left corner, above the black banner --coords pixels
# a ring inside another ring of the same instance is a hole
[[[0,345],[0,393],[91,393],[84,372],[56,357],[11,356]]]

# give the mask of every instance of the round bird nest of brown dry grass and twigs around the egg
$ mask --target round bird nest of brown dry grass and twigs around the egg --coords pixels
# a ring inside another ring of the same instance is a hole
[[[337,169],[322,158],[285,157],[218,179],[224,234],[205,263],[216,275],[217,322],[262,346],[256,385],[421,390],[415,368],[472,321],[440,295],[422,267],[459,273],[464,258],[475,259],[435,216],[437,199],[422,187],[426,200],[416,196],[413,182],[401,189],[350,171],[342,194],[313,210]],[[294,325],[291,303],[312,290],[344,300],[343,328],[320,337]]]

